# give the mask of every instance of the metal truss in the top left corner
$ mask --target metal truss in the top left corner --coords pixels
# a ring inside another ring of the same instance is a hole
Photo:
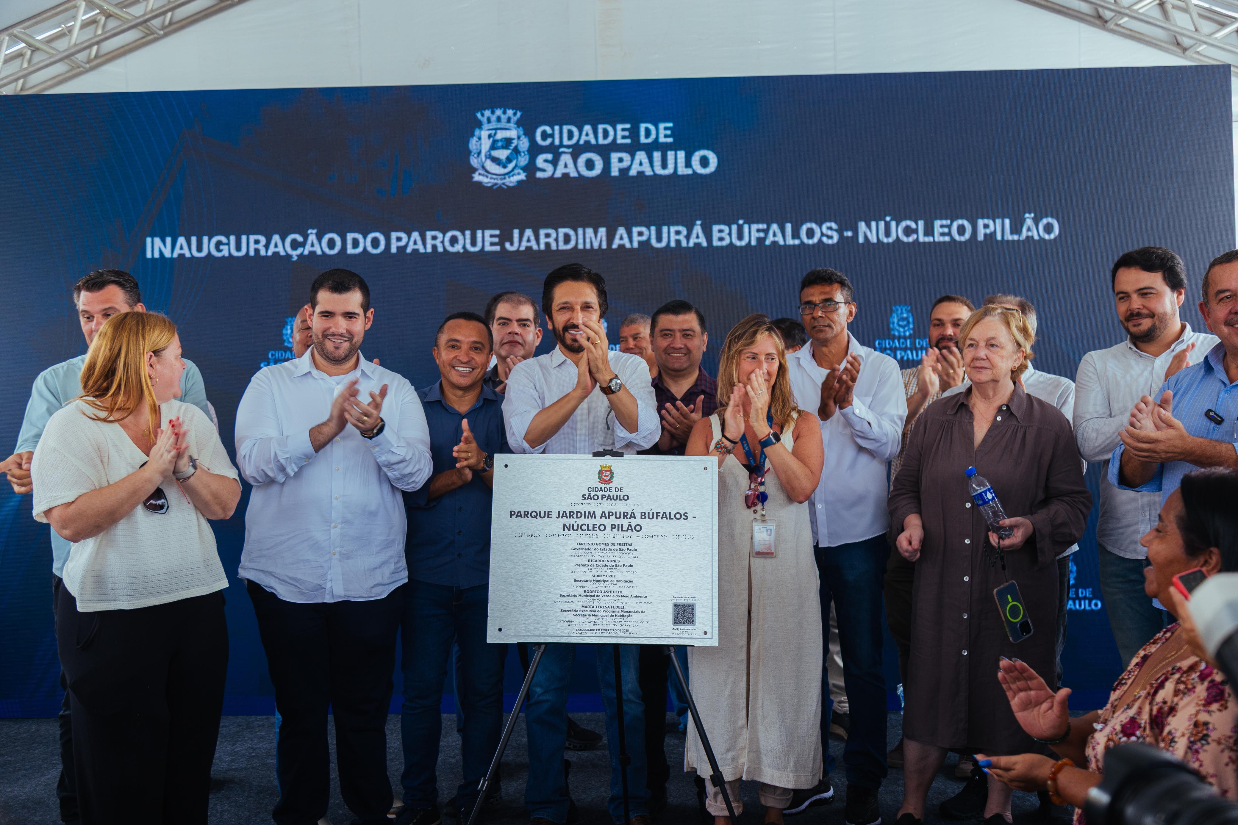
[[[0,30],[0,94],[36,94],[245,0],[66,0]]]

